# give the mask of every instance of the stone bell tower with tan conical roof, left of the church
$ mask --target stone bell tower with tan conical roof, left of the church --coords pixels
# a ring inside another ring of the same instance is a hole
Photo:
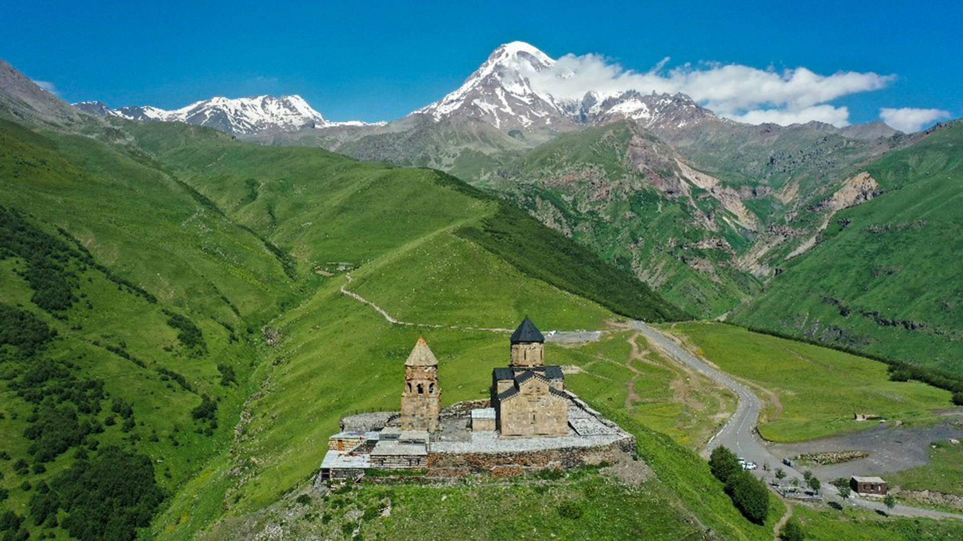
[[[438,387],[438,360],[425,342],[425,337],[411,349],[404,361],[402,393],[402,429],[428,430],[440,428],[441,388]]]

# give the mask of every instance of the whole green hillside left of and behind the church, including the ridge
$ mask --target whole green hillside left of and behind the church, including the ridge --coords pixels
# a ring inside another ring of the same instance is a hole
[[[159,533],[191,537],[310,474],[340,416],[394,405],[391,361],[418,332],[342,286],[430,324],[681,316],[429,169],[180,124],[82,136],[2,121],[0,183],[0,506],[34,534],[126,538],[159,510]],[[508,230],[491,221],[502,216]],[[305,314],[315,320],[298,324]],[[476,334],[447,348],[501,362],[504,337]],[[289,364],[296,343],[325,350]],[[285,381],[293,394],[275,393]],[[252,465],[256,477],[238,477]],[[103,505],[117,521],[96,519]]]

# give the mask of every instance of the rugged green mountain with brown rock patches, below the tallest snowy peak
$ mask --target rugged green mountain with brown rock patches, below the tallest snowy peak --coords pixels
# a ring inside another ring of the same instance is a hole
[[[633,142],[641,137],[645,142]],[[644,139],[644,138],[649,139]],[[668,167],[642,173],[630,163],[630,144],[657,148],[646,167]],[[748,298],[758,284],[729,263],[728,255],[694,245],[725,238],[737,250],[747,241],[717,220],[720,231],[706,229],[684,199],[670,199],[648,175],[671,177],[677,166],[663,154],[664,143],[636,131],[626,122],[563,134],[521,156],[508,167],[509,178],[496,187],[546,223],[571,233],[601,257],[639,275],[690,313],[715,316]],[[700,190],[692,188],[694,193]],[[710,214],[725,214],[715,199],[697,198]],[[683,261],[713,262],[716,278]]]

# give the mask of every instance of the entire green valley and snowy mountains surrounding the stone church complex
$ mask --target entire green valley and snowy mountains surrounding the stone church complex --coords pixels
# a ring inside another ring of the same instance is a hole
[[[963,124],[754,125],[684,93],[562,96],[559,62],[510,42],[438,101],[368,123],[299,95],[69,105],[0,61],[4,539],[768,541],[791,518],[807,539],[957,536],[963,509],[887,515],[828,486],[839,509],[764,490],[751,519],[705,460],[745,397],[672,348],[758,395],[745,431],[767,445],[956,434]],[[529,316],[638,452],[320,480],[344,417],[398,409],[416,340],[444,405],[488,401]],[[946,446],[907,488],[955,471]]]

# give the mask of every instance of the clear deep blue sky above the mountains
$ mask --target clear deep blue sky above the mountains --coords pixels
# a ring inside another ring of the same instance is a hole
[[[455,90],[500,43],[523,40],[553,58],[594,53],[639,72],[669,57],[665,71],[896,75],[824,105],[846,107],[853,123],[881,108],[963,116],[958,2],[164,4],[0,0],[0,58],[68,101],[172,109],[299,93],[335,120],[381,120]]]

